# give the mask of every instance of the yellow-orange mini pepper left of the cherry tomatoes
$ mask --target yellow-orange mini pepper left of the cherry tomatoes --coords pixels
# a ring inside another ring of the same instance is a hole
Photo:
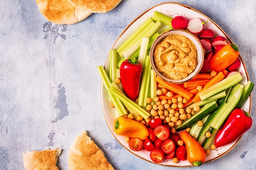
[[[145,140],[149,136],[149,132],[146,126],[138,121],[126,119],[124,117],[118,117],[115,120],[114,130],[117,135],[122,135],[130,138],[138,138],[141,140]]]

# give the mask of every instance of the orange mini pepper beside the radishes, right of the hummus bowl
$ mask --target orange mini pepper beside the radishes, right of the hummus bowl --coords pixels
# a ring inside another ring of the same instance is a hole
[[[238,46],[235,44],[227,44],[213,55],[210,60],[211,71],[222,71],[230,66],[239,56]]]

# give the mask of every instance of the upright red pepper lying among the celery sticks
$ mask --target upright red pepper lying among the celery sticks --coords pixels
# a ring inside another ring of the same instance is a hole
[[[120,79],[124,92],[132,101],[135,101],[139,94],[141,72],[142,66],[136,58],[127,59],[120,66]]]

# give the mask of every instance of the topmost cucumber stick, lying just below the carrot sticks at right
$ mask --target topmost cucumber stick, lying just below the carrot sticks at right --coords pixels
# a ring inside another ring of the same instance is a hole
[[[241,76],[240,73],[236,73],[234,75],[231,75],[225,79],[223,79],[222,81],[214,84],[213,86],[200,91],[199,97],[201,100],[205,100],[221,91],[226,90],[227,88],[234,86],[235,84],[237,84],[238,82],[240,82],[243,79],[243,77]]]

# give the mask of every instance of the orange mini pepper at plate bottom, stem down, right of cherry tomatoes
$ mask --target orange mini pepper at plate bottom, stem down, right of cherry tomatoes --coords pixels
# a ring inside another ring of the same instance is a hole
[[[180,138],[186,146],[186,154],[189,163],[193,166],[200,166],[205,161],[205,152],[202,146],[188,132],[180,132]]]

